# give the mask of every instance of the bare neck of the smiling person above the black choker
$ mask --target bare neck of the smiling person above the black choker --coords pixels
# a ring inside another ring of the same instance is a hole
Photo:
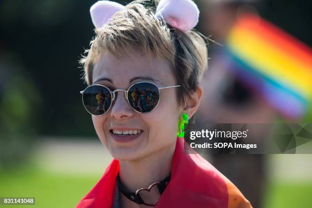
[[[140,160],[120,161],[119,176],[123,185],[131,192],[159,182],[171,173],[173,145],[148,155]]]

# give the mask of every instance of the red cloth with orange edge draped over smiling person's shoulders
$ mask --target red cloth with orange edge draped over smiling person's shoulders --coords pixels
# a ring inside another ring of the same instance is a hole
[[[76,208],[111,208],[119,161],[113,160],[91,191]],[[171,179],[159,207],[252,207],[238,188],[199,154],[184,152],[184,139],[177,138]]]

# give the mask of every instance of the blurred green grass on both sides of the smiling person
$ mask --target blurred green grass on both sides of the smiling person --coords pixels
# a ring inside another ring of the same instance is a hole
[[[0,197],[36,197],[36,205],[27,205],[29,208],[74,207],[100,176],[56,174],[29,165],[0,172]],[[25,206],[0,205],[2,207]],[[264,207],[312,207],[312,183],[271,181],[266,189]]]

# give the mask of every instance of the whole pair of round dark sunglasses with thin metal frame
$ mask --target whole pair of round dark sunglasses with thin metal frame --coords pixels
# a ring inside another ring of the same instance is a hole
[[[114,105],[118,93],[123,91],[125,99],[133,110],[138,113],[149,113],[153,111],[160,102],[160,90],[180,87],[180,85],[170,87],[158,87],[151,82],[138,82],[131,85],[128,90],[111,90],[103,85],[90,85],[82,94],[85,109],[94,116],[106,114]]]

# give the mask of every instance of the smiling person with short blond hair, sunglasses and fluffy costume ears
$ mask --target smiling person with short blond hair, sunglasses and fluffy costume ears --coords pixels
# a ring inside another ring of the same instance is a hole
[[[76,207],[251,207],[177,137],[179,119],[193,121],[207,68],[205,40],[192,30],[198,8],[191,0],[150,3],[99,1],[90,9],[96,37],[81,60],[89,85],[81,93],[83,103],[97,88],[110,93],[106,113],[85,108],[114,159]],[[147,112],[129,100],[136,88],[155,94]]]

